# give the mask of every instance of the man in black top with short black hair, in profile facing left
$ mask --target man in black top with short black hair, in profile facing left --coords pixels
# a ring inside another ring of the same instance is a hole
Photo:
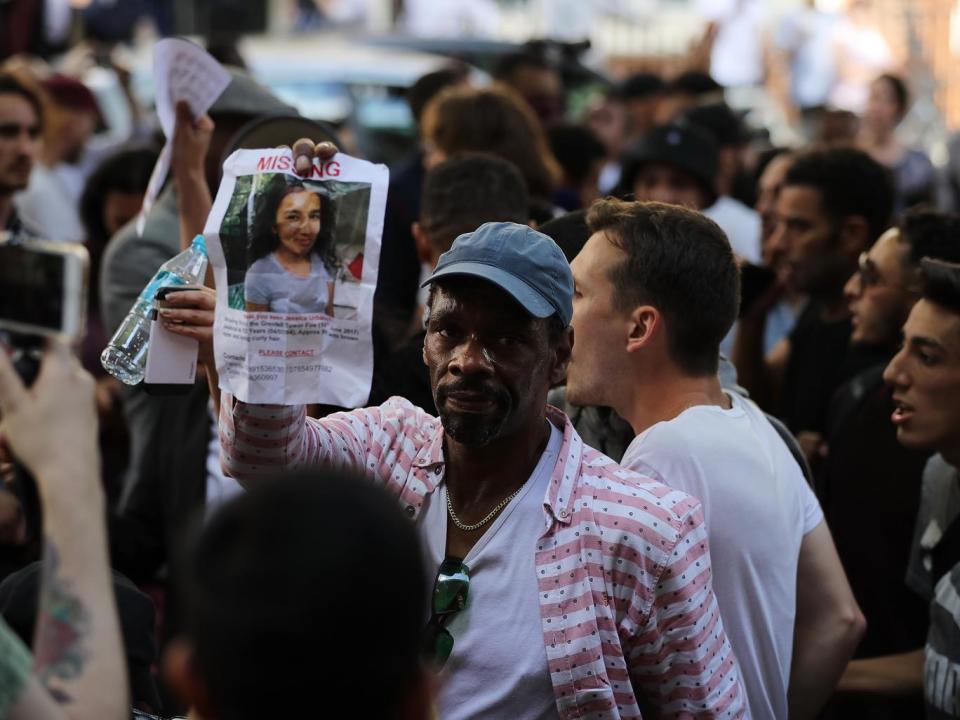
[[[848,355],[850,310],[843,296],[860,253],[887,228],[893,207],[889,173],[849,148],[797,156],[777,195],[769,243],[782,253],[781,280],[810,296],[797,324],[763,353],[766,311],[755,303],[740,319],[733,362],[751,395],[787,424],[813,454],[837,387],[857,368]],[[776,298],[771,294],[771,301]]]

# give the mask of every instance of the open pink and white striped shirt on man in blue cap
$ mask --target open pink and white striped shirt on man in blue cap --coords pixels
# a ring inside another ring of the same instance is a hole
[[[536,568],[563,720],[744,718],[746,695],[710,583],[700,503],[621,468],[548,408],[563,443]],[[306,417],[223,397],[224,469],[241,482],[324,462],[366,471],[416,518],[444,477],[440,420],[402,398]]]

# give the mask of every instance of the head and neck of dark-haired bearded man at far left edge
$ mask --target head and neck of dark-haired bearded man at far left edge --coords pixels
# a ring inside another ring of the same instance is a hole
[[[13,194],[30,181],[40,154],[42,119],[38,95],[13,75],[0,74],[0,231],[24,232]]]

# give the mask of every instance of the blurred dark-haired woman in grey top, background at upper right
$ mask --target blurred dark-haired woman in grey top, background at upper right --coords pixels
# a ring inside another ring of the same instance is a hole
[[[906,147],[896,134],[909,107],[910,96],[903,79],[881,75],[870,84],[860,125],[860,147],[893,173],[898,213],[933,200],[935,178],[930,159],[923,151]]]

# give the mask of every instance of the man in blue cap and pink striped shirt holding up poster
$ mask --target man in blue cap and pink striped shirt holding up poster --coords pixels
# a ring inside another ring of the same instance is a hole
[[[225,468],[254,483],[335,463],[397,496],[436,573],[424,651],[443,666],[444,720],[745,716],[699,502],[584,446],[546,405],[572,341],[561,250],[486,223],[426,284],[439,419],[402,398],[312,420],[225,395]]]

